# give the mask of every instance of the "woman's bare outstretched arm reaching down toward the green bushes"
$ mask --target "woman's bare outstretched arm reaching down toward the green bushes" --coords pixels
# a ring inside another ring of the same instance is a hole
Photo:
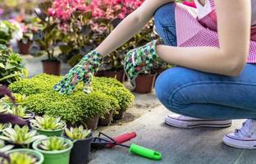
[[[139,33],[152,18],[154,11],[167,2],[175,0],[146,0],[137,10],[126,17],[95,50],[108,54],[126,43],[133,35]]]

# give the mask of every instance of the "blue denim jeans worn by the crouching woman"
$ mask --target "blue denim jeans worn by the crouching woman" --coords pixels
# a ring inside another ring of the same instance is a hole
[[[168,3],[154,15],[158,34],[171,46],[176,46],[174,7]],[[236,77],[176,66],[158,76],[155,89],[161,103],[181,115],[256,119],[256,64],[246,64]]]

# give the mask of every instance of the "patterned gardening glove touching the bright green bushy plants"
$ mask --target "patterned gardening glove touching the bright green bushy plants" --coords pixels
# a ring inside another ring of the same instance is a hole
[[[62,94],[71,94],[75,86],[83,81],[85,93],[91,92],[91,80],[94,73],[98,71],[101,65],[103,57],[96,51],[91,51],[81,59],[70,71],[66,73],[64,78],[54,86],[53,90]]]

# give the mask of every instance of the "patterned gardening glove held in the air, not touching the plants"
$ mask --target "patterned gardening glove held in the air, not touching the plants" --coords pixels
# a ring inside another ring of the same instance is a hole
[[[126,53],[125,71],[133,86],[135,86],[135,79],[139,73],[167,65],[158,57],[156,50],[158,43],[160,43],[160,40],[153,40],[142,47],[135,48]]]

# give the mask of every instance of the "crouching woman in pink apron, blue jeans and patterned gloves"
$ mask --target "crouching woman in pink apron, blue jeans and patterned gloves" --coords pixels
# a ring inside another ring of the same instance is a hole
[[[227,127],[231,119],[248,119],[223,141],[235,148],[256,148],[256,0],[194,2],[197,11],[173,0],[146,0],[54,89],[72,93],[83,81],[89,93],[103,56],[126,43],[154,15],[162,40],[126,54],[131,83],[141,71],[177,65],[159,75],[155,87],[162,104],[181,114],[167,116],[166,123],[183,128]]]

